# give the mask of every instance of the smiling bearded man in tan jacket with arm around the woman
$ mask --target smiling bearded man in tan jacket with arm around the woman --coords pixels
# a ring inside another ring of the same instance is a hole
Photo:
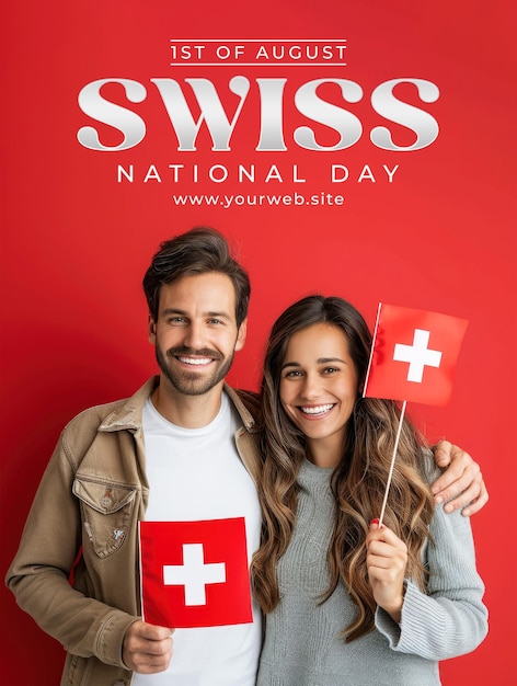
[[[65,427],[7,583],[67,649],[61,684],[252,686],[262,631],[246,576],[261,527],[256,403],[225,384],[245,342],[250,283],[223,237],[196,228],[162,243],[143,289],[160,374]],[[464,514],[480,510],[487,494],[478,465],[447,442],[435,455],[441,466],[453,458],[437,501],[457,495],[449,508],[472,501]],[[163,525],[176,538],[160,548]],[[180,593],[181,621],[169,621],[160,601],[149,611],[166,620],[141,619],[152,585],[146,536],[149,550],[165,551],[159,585]],[[208,559],[216,544],[226,552]],[[172,560],[174,546],[183,557]],[[219,576],[191,579],[193,561]],[[231,601],[218,604],[228,591]]]

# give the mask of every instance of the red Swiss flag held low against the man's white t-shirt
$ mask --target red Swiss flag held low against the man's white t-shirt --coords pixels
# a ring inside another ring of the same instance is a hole
[[[140,522],[145,621],[171,628],[253,621],[243,517]]]

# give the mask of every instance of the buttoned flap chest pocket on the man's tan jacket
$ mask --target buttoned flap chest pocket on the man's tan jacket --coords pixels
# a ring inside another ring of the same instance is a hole
[[[136,489],[77,477],[72,491],[81,503],[84,530],[95,553],[105,558],[118,550],[126,540]]]

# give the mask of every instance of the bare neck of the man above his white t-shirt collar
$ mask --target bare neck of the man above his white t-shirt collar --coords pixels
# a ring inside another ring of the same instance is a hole
[[[222,386],[221,381],[206,393],[186,396],[160,377],[151,401],[158,412],[172,424],[183,428],[199,428],[216,419],[221,408]]]

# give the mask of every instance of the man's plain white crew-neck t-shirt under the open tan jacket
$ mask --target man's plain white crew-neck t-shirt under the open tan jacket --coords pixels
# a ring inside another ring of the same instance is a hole
[[[200,428],[171,424],[148,400],[143,410],[146,471],[150,488],[146,522],[172,522],[180,529],[177,523],[188,523],[185,526],[197,526],[192,523],[199,522],[212,524],[211,521],[230,526],[243,524],[244,547],[237,546],[235,549],[242,550],[249,570],[260,542],[261,510],[253,480],[234,445],[233,434],[241,424],[226,393],[218,415]],[[186,560],[185,547],[183,554]],[[197,556],[196,559],[200,556],[203,564],[200,545],[192,554]],[[219,573],[219,568],[225,565],[221,562],[212,567]],[[182,572],[177,572],[179,569],[174,567],[173,573]],[[182,582],[173,579],[171,583]],[[216,576],[204,583],[207,585],[202,585],[202,596],[204,590],[219,592],[225,583],[230,582]],[[185,595],[182,597],[187,604],[187,582],[183,591]],[[249,586],[244,591],[246,595],[248,591]],[[203,604],[203,599],[197,598],[195,603]],[[173,658],[166,672],[135,673],[133,686],[254,686],[262,628],[260,608],[253,603],[251,591],[248,603],[251,603],[252,621],[231,624],[230,620],[222,626],[176,628]],[[231,601],[225,603],[225,607],[227,605],[231,605]]]

